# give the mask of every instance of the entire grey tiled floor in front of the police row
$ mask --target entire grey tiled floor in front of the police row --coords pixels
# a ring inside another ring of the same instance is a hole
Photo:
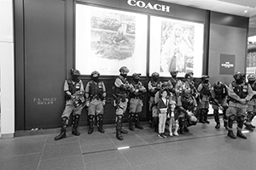
[[[113,126],[105,126],[103,134],[96,128],[87,134],[87,127],[80,127],[79,137],[68,131],[67,139],[59,141],[54,140],[57,133],[0,139],[0,169],[256,169],[256,132],[245,133],[247,139],[230,139],[224,127],[214,128],[211,119],[179,137],[160,139],[148,124],[143,125],[143,130],[124,134],[123,141],[115,138]],[[130,148],[118,150],[125,146]]]

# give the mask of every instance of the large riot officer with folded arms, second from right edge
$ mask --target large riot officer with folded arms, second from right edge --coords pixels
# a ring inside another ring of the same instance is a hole
[[[240,137],[241,139],[247,139],[247,137],[241,133],[243,122],[245,121],[247,102],[253,97],[253,89],[250,84],[245,82],[246,75],[240,71],[234,74],[235,81],[230,82],[228,88],[229,94],[229,108],[226,112],[228,117],[228,136],[232,139]],[[237,122],[236,136],[233,133],[233,122]]]

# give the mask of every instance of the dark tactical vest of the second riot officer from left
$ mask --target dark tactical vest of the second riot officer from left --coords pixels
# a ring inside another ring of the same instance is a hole
[[[88,83],[90,85],[90,88],[89,88],[90,98],[96,97],[96,98],[102,99],[103,82],[94,82],[91,80]]]

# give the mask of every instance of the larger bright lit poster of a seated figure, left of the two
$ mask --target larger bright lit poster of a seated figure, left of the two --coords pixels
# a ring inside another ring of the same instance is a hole
[[[146,14],[76,4],[76,69],[108,76],[127,66],[146,76],[147,26]]]

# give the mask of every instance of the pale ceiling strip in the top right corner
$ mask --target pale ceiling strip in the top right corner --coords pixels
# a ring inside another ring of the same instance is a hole
[[[249,17],[248,37],[256,36],[256,0],[159,0],[184,6],[203,8],[225,14]],[[247,13],[245,13],[247,11]]]

